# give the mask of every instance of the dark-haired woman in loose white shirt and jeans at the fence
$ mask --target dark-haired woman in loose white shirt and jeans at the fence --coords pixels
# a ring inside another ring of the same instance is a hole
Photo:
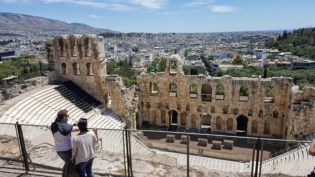
[[[93,132],[89,131],[88,120],[80,118],[78,127],[80,133],[72,139],[72,157],[75,157],[75,165],[80,177],[85,177],[85,172],[88,177],[92,177],[92,163],[95,157],[95,145],[97,144],[97,129],[93,128]]]

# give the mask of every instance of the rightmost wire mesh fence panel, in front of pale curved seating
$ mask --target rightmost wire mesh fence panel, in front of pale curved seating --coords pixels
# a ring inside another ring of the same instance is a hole
[[[306,177],[314,169],[311,142],[261,139],[259,177]]]

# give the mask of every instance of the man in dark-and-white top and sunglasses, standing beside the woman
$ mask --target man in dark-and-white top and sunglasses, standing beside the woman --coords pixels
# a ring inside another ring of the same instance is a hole
[[[63,177],[66,177],[69,171],[69,161],[72,152],[71,133],[79,131],[79,128],[67,123],[69,118],[67,110],[60,110],[53,123],[46,127],[52,131],[58,156],[63,159]]]

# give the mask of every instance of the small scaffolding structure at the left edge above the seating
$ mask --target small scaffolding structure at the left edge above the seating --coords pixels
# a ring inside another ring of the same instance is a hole
[[[19,94],[19,90],[17,88],[18,81],[17,76],[9,76],[7,78],[2,79],[2,87],[1,90],[4,92],[5,99],[10,99]]]

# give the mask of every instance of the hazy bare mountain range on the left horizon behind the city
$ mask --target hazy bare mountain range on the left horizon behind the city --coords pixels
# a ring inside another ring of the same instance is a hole
[[[103,32],[123,33],[111,29],[99,29],[80,23],[66,23],[59,20],[26,14],[0,12],[0,30],[21,31],[64,31],[78,30],[81,33],[99,34]]]

